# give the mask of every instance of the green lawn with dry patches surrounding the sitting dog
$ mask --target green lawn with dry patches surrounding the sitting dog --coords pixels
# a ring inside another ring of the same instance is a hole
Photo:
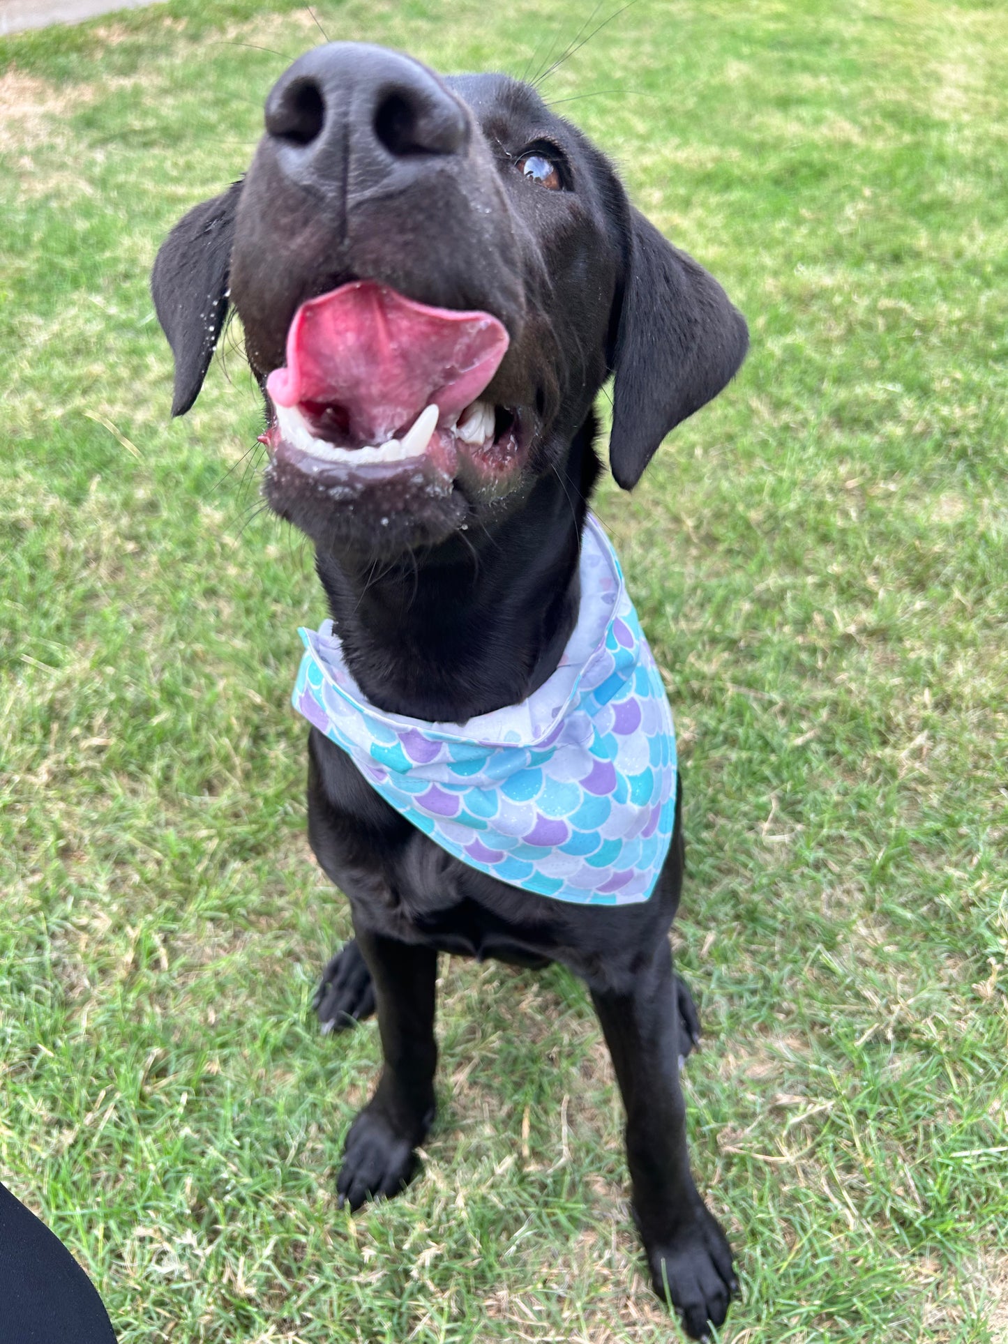
[[[317,12],[520,73],[587,11]],[[317,36],[169,0],[0,43],[0,1172],[122,1344],[673,1339],[559,970],[444,962],[426,1175],[336,1210],[378,1043],[309,1012],[321,594],[254,516],[241,359],[169,423],[146,290]],[[737,1344],[1008,1340],[1005,89],[1008,11],[925,0],[640,0],[548,83],[753,331],[599,499],[677,714]]]

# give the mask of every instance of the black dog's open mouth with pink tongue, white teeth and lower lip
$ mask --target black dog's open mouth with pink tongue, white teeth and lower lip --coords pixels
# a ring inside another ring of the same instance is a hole
[[[375,281],[341,285],[294,314],[286,367],[266,380],[265,442],[274,462],[341,500],[396,482],[499,493],[527,448],[520,410],[480,399],[507,348],[489,313],[430,308]]]

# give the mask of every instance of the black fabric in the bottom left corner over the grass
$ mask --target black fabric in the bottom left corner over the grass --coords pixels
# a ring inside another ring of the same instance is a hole
[[[4,1185],[0,1344],[116,1344],[91,1281],[59,1238]]]

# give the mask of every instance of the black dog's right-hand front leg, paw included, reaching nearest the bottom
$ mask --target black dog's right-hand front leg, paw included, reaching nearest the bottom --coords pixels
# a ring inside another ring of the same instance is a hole
[[[626,1107],[633,1212],[655,1292],[671,1298],[689,1335],[720,1325],[737,1288],[731,1249],[689,1171],[679,1085],[680,1016],[672,953],[661,941],[632,988],[591,988]],[[685,1047],[685,1048],[684,1048]]]

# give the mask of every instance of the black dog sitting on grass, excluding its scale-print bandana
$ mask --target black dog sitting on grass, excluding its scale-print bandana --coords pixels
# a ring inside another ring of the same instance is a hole
[[[302,329],[309,317],[324,327],[301,305],[331,292],[341,296],[332,340],[351,337],[339,358],[321,328],[310,340]],[[358,687],[382,711],[448,723],[523,702],[558,667],[579,612],[599,470],[593,403],[606,378],[610,464],[629,489],[747,345],[720,286],[630,207],[607,160],[528,85],[442,79],[349,43],[308,52],[280,79],[247,175],[175,227],[153,296],[175,353],[173,414],[195,401],[234,305],[266,398],[266,499],[316,546]],[[386,331],[383,304],[409,316]],[[505,332],[508,348],[478,386],[452,366],[468,419],[448,415],[445,391],[418,456],[405,435],[435,394],[413,386],[410,362],[429,372],[435,360],[421,336],[431,312],[435,335],[457,317],[470,332]],[[379,351],[374,370],[355,363],[358,347]],[[294,391],[274,374],[292,349],[304,366],[289,375],[301,379]],[[327,395],[327,378],[345,391]],[[679,798],[650,898],[587,909],[461,863],[316,728],[308,747],[312,847],[356,933],[327,968],[319,1015],[340,1025],[376,1004],[384,1054],[347,1136],[341,1196],[356,1208],[414,1172],[434,1116],[437,953],[563,962],[587,982],[613,1055],[655,1288],[689,1333],[720,1324],[737,1286],[731,1251],[689,1171],[676,1067],[696,1030],[668,942]]]

